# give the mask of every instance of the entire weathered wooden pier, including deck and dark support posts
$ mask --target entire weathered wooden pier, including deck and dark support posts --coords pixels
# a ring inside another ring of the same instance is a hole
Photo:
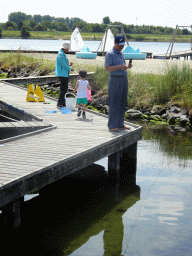
[[[26,94],[25,89],[0,81],[0,109],[11,109],[12,116],[24,119],[11,120],[7,126],[16,126],[17,122],[31,127],[43,124],[40,130],[31,128],[24,135],[1,140],[0,209],[9,226],[20,225],[26,194],[105,157],[111,181],[117,182],[123,175],[127,188],[135,186],[140,126],[127,123],[131,130],[109,132],[105,115],[87,111],[84,120],[77,118],[76,111],[62,114],[57,109],[57,113],[46,113],[46,108],[56,109],[56,101],[45,97],[50,104],[26,102]],[[5,127],[1,125],[2,129]]]

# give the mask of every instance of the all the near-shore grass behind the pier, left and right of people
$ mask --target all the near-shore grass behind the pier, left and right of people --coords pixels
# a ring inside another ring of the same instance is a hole
[[[79,71],[80,66],[74,63],[75,72]],[[44,71],[45,74],[54,74],[55,61],[46,59],[35,59],[32,55],[27,56],[22,53],[1,53],[0,68],[21,70],[27,69],[28,72],[35,70]],[[103,67],[86,66],[88,72],[93,71],[94,79],[91,81],[92,88],[107,94],[107,83],[109,74]],[[5,76],[6,74],[1,74]],[[178,103],[180,106],[192,109],[192,69],[188,64],[178,66],[166,66],[162,74],[143,74],[128,71],[129,93],[128,105],[141,109],[152,107],[154,104],[165,106],[167,104]]]

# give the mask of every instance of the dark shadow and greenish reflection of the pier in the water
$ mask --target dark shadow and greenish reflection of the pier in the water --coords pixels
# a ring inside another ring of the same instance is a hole
[[[95,255],[121,256],[122,216],[140,199],[140,188],[120,190],[117,202],[116,188],[108,184],[104,167],[90,168],[25,202],[21,230],[13,237],[14,252],[17,248],[21,253],[25,245],[34,255],[80,256],[94,255],[96,247]]]

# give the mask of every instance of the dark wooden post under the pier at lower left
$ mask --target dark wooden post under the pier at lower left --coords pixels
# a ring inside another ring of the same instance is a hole
[[[21,208],[24,202],[24,197],[14,200],[5,205],[2,209],[5,228],[13,230],[21,224]]]

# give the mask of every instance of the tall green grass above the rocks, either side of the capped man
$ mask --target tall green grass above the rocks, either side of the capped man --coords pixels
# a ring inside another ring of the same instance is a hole
[[[108,72],[103,67],[96,67],[94,72],[94,86],[98,90],[107,91]],[[129,70],[128,80],[129,107],[140,109],[172,102],[192,108],[192,69],[187,64],[167,65],[163,74],[133,73]]]

